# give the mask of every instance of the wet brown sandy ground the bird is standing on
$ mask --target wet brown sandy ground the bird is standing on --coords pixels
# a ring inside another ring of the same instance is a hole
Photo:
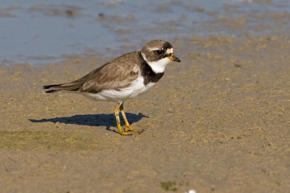
[[[126,101],[43,94],[108,59],[0,66],[0,192],[289,192],[290,37],[179,37],[182,63]]]

